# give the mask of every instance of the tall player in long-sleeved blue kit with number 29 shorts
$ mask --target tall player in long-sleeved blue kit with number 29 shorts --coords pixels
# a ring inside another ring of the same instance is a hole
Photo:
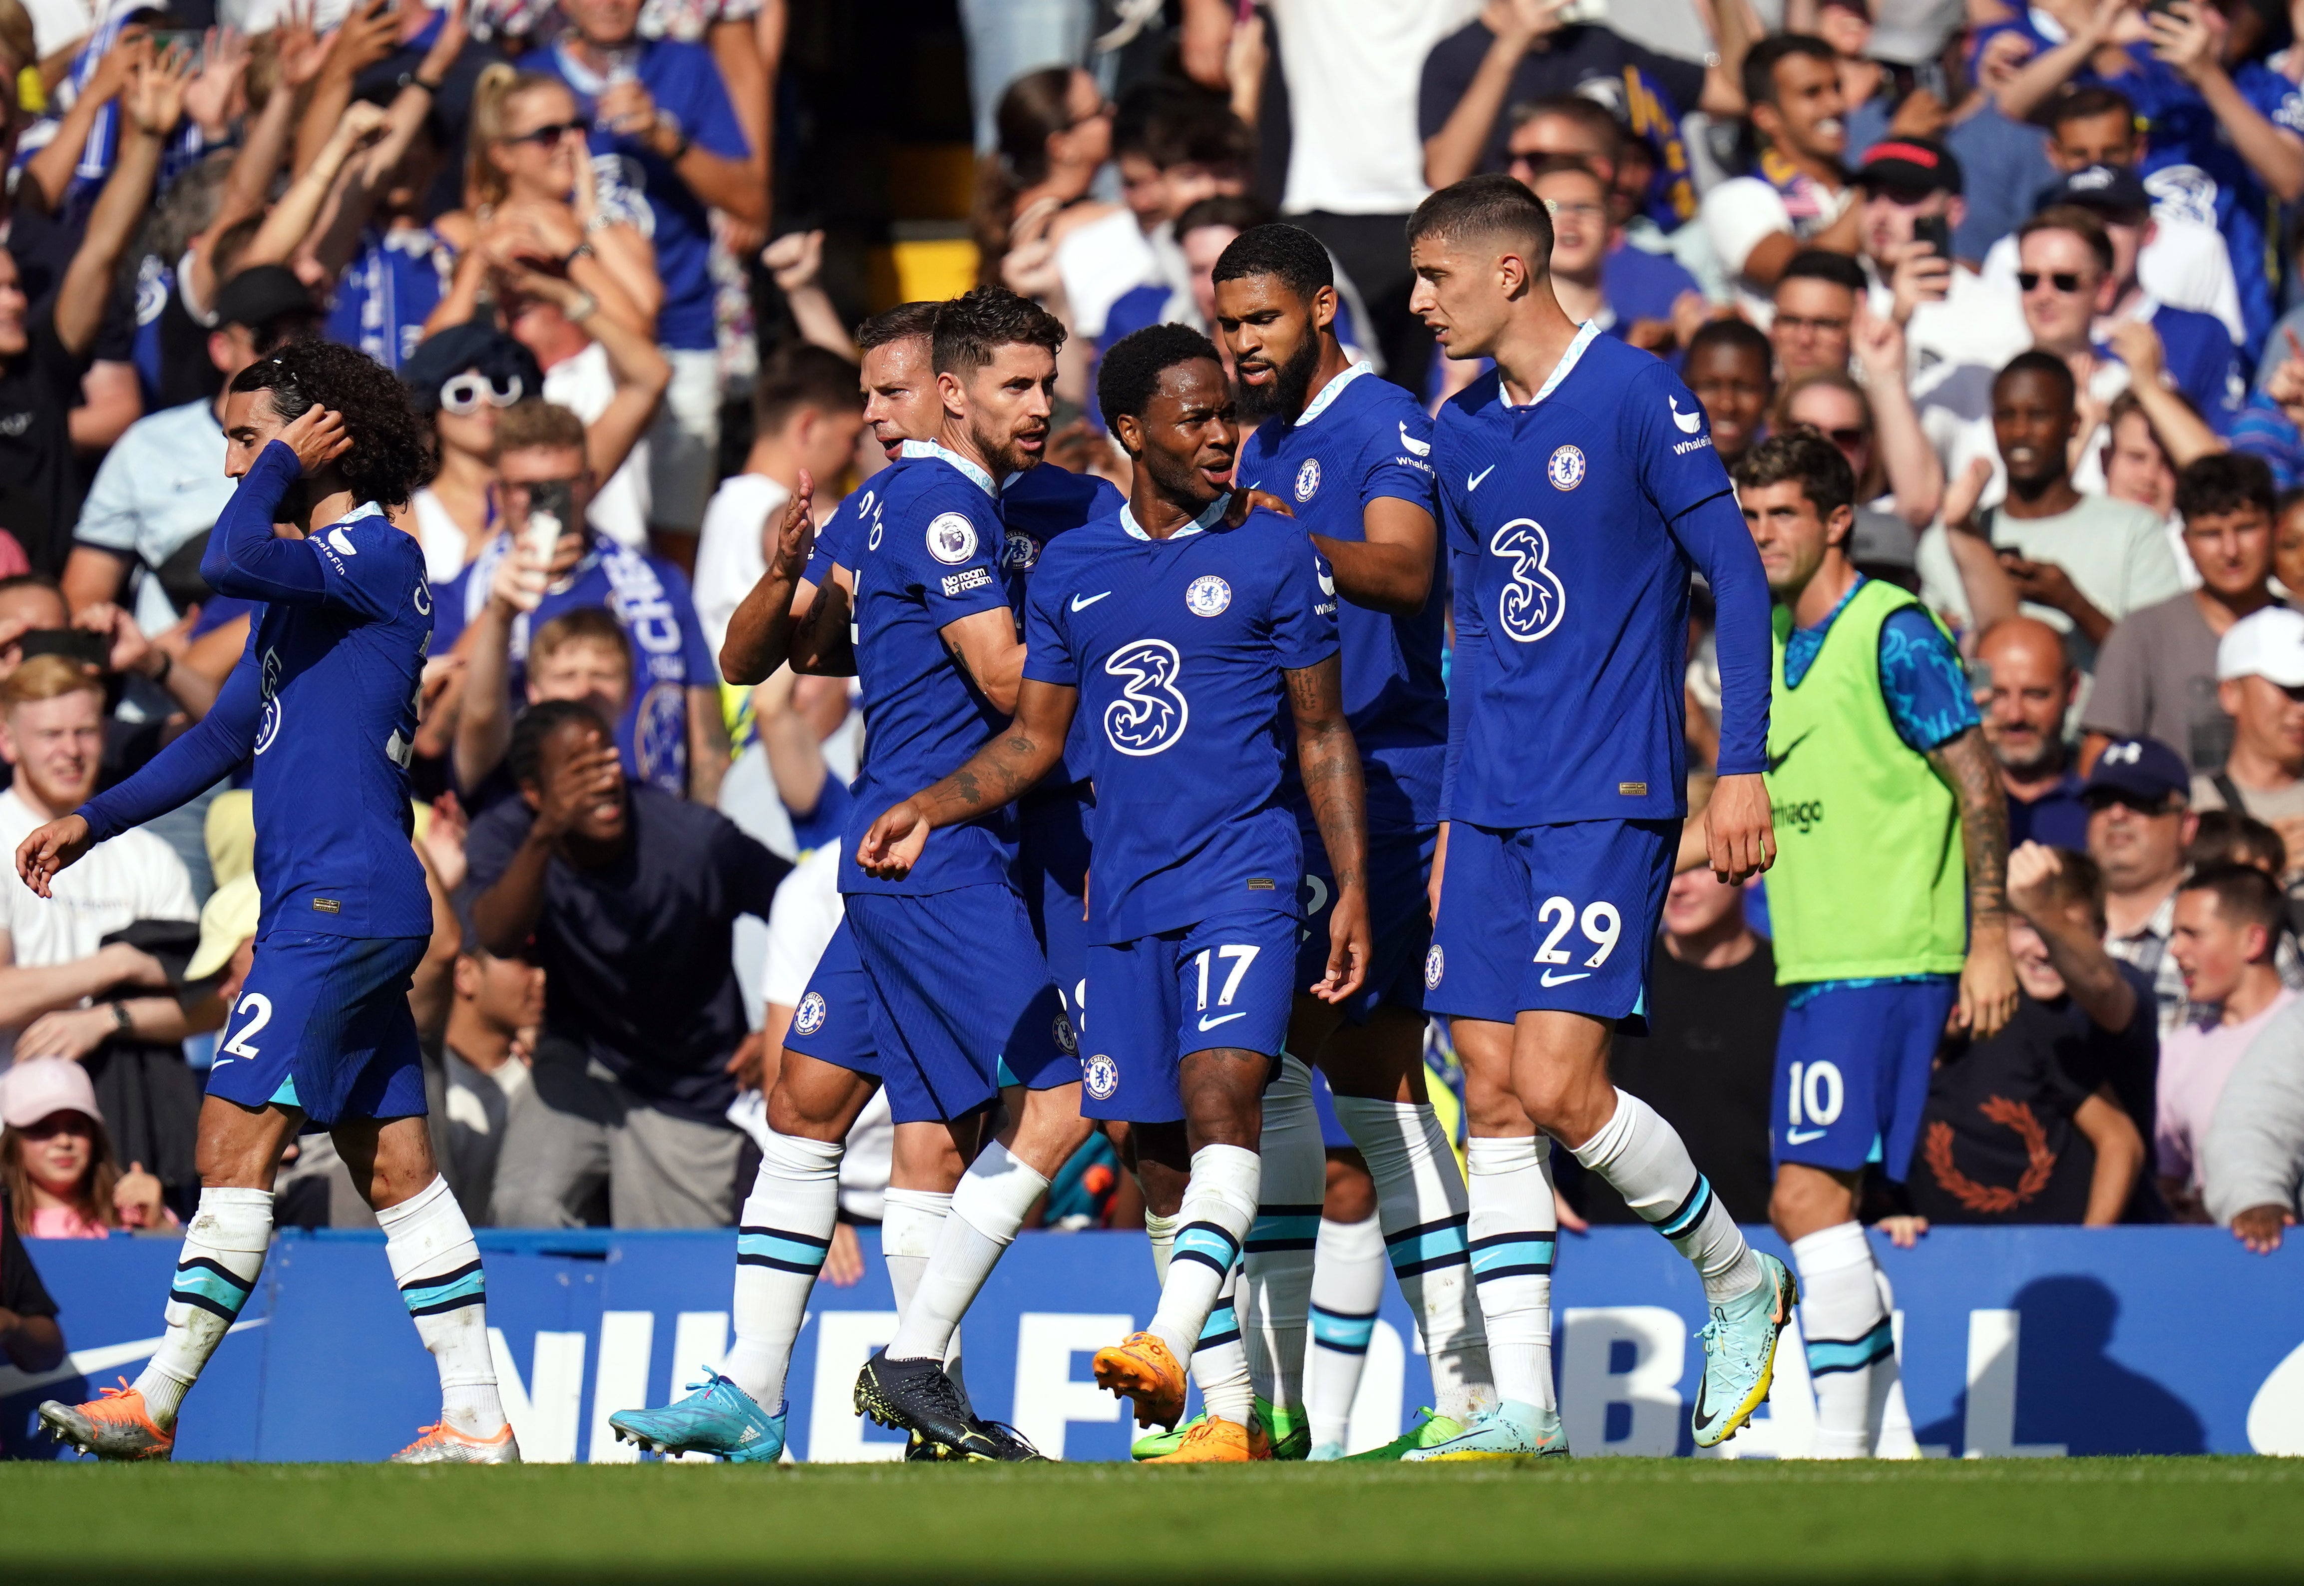
[[[1470,178],[1417,207],[1408,242],[1412,302],[1442,350],[1495,360],[1433,424],[1456,662],[1424,987],[1465,1070],[1472,1277],[1500,1399],[1408,1457],[1567,1452],[1551,1374],[1553,1139],[1698,1268],[1710,1321],[1691,1425],[1714,1445],[1767,1397],[1797,1286],[1744,1245],[1673,1127],[1608,1081],[1608,1042],[1620,1024],[1645,1028],[1687,814],[1691,569],[1719,609],[1712,869],[1742,883],[1774,855],[1767,581],[1696,396],[1562,314],[1539,198]]]

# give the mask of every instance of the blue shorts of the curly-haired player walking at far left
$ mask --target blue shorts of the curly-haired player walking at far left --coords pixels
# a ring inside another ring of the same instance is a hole
[[[426,936],[270,931],[233,1003],[207,1093],[295,1107],[311,1123],[422,1118],[424,1058],[408,984]]]

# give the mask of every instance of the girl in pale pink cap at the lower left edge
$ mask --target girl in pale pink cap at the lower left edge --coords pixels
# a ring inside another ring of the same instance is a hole
[[[0,1077],[0,1187],[23,1238],[104,1238],[113,1229],[173,1229],[159,1180],[127,1173],[97,1111],[88,1070],[28,1058]]]

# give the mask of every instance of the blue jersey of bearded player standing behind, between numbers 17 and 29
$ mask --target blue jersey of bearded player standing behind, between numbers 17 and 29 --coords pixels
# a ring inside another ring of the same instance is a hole
[[[1237,479],[1288,503],[1304,533],[1366,539],[1366,507],[1385,496],[1440,516],[1433,491],[1431,417],[1415,396],[1352,364],[1329,380],[1295,424],[1267,420],[1240,447]],[[1445,546],[1433,549],[1435,562]],[[1369,825],[1422,828],[1440,818],[1440,763],[1447,745],[1447,685],[1440,645],[1447,636],[1442,590],[1415,615],[1389,615],[1343,602],[1343,708],[1369,777]]]

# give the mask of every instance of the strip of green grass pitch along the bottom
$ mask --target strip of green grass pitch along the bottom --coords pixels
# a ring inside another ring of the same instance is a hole
[[[2299,1581],[2304,1462],[16,1464],[0,1579]]]

